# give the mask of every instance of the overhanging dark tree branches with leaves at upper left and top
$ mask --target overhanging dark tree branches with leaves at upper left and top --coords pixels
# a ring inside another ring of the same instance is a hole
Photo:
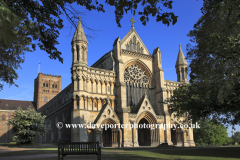
[[[0,24],[0,29],[11,33],[11,36],[0,35],[2,51],[0,90],[3,87],[2,82],[16,85],[14,79],[18,78],[18,74],[15,70],[24,62],[24,53],[34,51],[36,45],[46,51],[51,59],[58,59],[63,63],[61,52],[56,48],[59,31],[63,28],[63,20],[60,16],[66,15],[69,22],[76,27],[74,19],[81,13],[75,10],[72,4],[85,7],[89,11],[105,11],[103,4],[97,0],[20,0],[18,2],[8,0],[5,3],[0,0],[1,23],[8,22],[8,25]],[[143,6],[143,9],[137,13],[141,15],[140,20],[143,25],[149,21],[149,16],[156,17],[157,22],[161,21],[166,25],[177,22],[177,16],[172,12],[162,12],[163,7],[172,9],[171,0],[106,0],[105,4],[115,7],[115,17],[119,27],[121,27],[120,20],[124,13],[131,11],[135,15],[139,6]],[[17,18],[20,19],[20,24],[16,26],[17,23],[13,22],[17,21]],[[11,39],[7,39],[8,37]],[[12,42],[13,39],[15,41]]]

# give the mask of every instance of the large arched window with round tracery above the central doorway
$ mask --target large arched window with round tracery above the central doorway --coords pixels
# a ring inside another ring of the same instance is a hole
[[[149,78],[137,65],[131,65],[124,71],[127,106],[134,107],[146,93],[149,96]]]

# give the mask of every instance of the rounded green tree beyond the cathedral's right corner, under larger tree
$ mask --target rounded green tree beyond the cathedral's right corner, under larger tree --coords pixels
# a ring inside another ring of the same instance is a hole
[[[197,144],[223,145],[229,144],[227,129],[216,120],[201,119],[198,121],[200,128],[194,129],[194,141]]]

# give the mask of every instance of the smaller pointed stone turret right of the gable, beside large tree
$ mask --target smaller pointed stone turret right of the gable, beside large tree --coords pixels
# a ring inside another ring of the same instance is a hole
[[[179,45],[179,52],[176,61],[176,73],[177,73],[177,81],[188,83],[188,72],[187,72],[188,63],[186,58],[183,55],[181,44]]]

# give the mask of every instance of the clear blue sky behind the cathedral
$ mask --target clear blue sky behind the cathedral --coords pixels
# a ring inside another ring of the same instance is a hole
[[[171,11],[179,16],[177,23],[169,27],[161,22],[156,22],[155,17],[150,17],[150,21],[147,22],[147,25],[143,26],[140,22],[140,16],[133,16],[129,12],[125,14],[121,20],[121,28],[117,27],[114,8],[111,6],[104,5],[105,13],[86,11],[84,7],[74,6],[77,10],[85,12],[84,15],[81,16],[83,24],[91,29],[97,30],[95,32],[96,35],[94,35],[87,28],[84,28],[87,35],[94,37],[93,39],[87,37],[89,43],[88,65],[91,66],[105,53],[112,50],[112,45],[117,37],[123,39],[131,29],[130,19],[133,17],[135,20],[135,30],[149,52],[152,54],[155,48],[160,48],[164,78],[166,80],[176,81],[175,63],[179,44],[181,44],[183,53],[186,56],[186,45],[190,43],[190,38],[187,34],[193,29],[193,25],[201,17],[200,8],[202,5],[202,0],[173,1],[172,10],[163,9],[163,11]],[[71,40],[75,29],[65,16],[62,16],[62,18],[64,20],[64,28],[60,30],[60,36],[58,38],[59,45],[57,45],[57,48],[62,52],[64,63],[62,64],[58,60],[51,60],[48,58],[47,53],[39,49],[35,52],[26,53],[25,62],[21,65],[22,69],[17,71],[19,78],[15,82],[19,87],[5,84],[3,91],[0,92],[1,99],[32,101],[34,79],[38,75],[39,61],[41,62],[40,72],[62,76],[62,89],[71,83]],[[240,127],[238,127],[237,130],[239,131]],[[231,129],[228,129],[229,135],[231,135],[230,132]]]

